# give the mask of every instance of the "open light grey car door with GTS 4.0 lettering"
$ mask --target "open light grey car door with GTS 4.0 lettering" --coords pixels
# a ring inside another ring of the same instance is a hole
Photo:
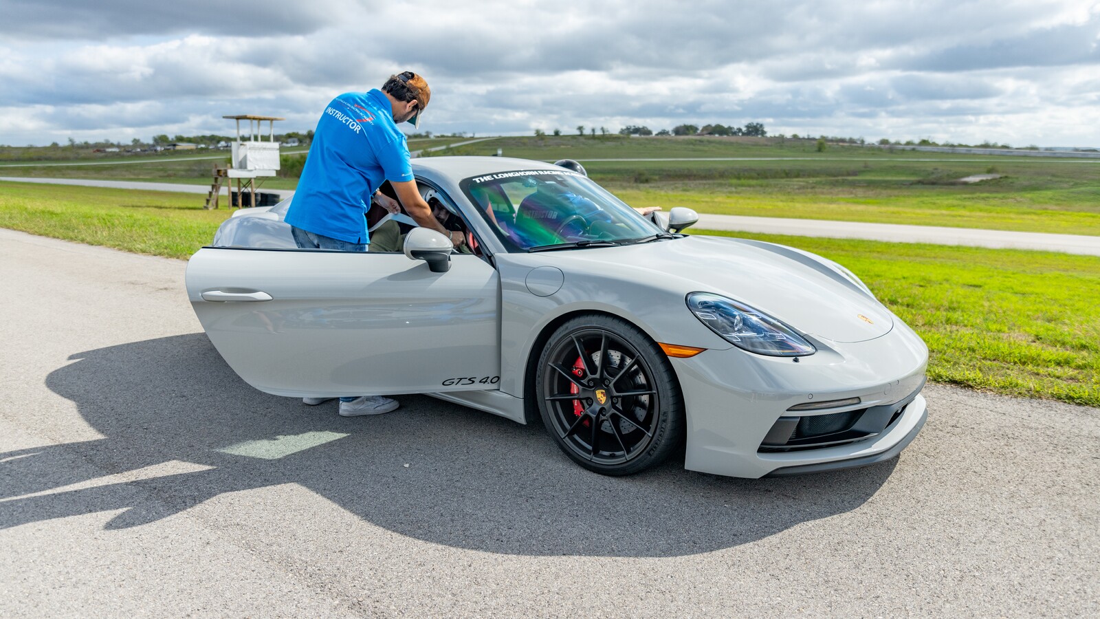
[[[402,253],[202,248],[187,294],[210,341],[276,395],[496,389],[499,276],[453,254],[431,272]]]

